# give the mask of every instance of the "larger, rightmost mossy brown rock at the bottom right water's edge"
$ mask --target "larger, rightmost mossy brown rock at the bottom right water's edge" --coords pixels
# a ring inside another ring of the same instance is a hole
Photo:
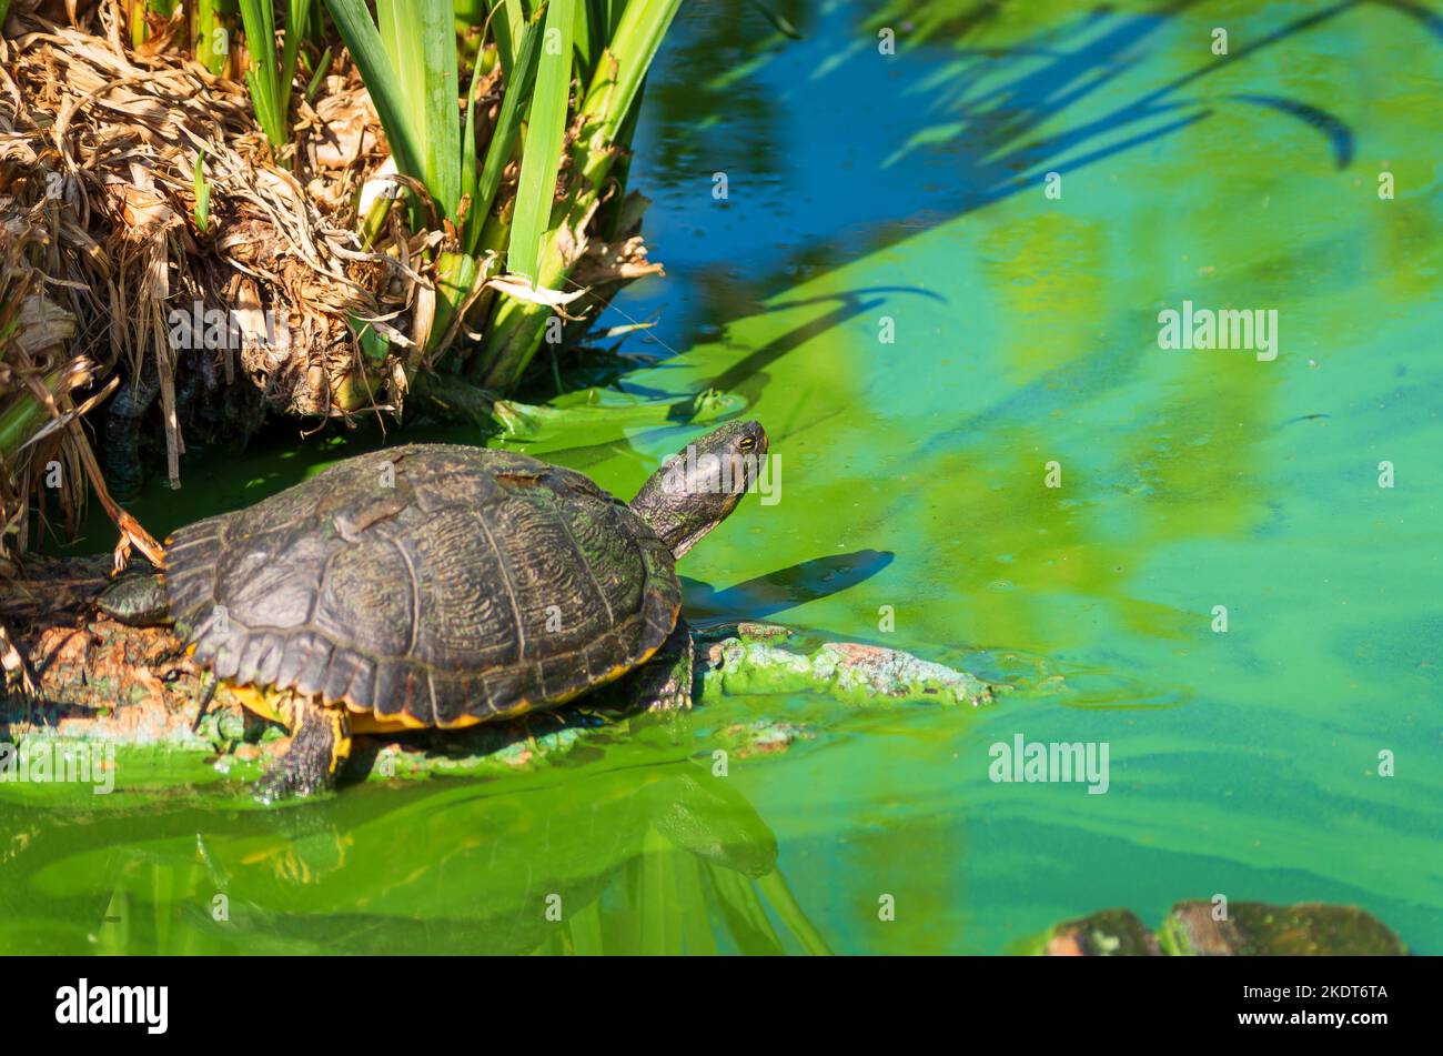
[[[1403,941],[1355,906],[1234,902],[1215,920],[1211,902],[1179,902],[1160,929],[1163,949],[1180,956],[1400,956]]]

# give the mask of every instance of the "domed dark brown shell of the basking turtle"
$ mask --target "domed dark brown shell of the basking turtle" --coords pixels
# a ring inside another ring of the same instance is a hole
[[[165,584],[221,678],[439,727],[618,678],[681,606],[671,551],[625,502],[569,469],[450,444],[348,459],[180,528]]]

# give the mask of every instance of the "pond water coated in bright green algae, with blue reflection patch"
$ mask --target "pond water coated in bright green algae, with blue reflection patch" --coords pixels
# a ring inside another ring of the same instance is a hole
[[[785,10],[801,39],[684,9],[631,176],[668,277],[608,316],[657,326],[517,446],[629,496],[698,431],[652,410],[724,391],[782,490],[687,555],[688,615],[1016,688],[717,695],[271,811],[199,757],[0,785],[4,952],[1000,954],[1215,894],[1443,952],[1443,14]],[[1274,319],[1271,355],[1162,348],[1185,303]],[[133,509],[159,535],[367,443],[205,453]],[[716,778],[762,720],[801,736]],[[993,780],[1019,737],[1105,746],[1105,792]]]

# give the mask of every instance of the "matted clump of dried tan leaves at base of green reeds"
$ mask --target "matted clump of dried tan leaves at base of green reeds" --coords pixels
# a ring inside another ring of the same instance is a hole
[[[102,16],[108,9],[101,6]],[[381,313],[378,294],[394,268],[359,254],[348,226],[333,224],[296,176],[274,164],[238,84],[175,55],[127,52],[115,19],[102,22],[105,36],[26,23],[35,30],[7,42],[13,91],[0,88],[14,114],[0,131],[0,154],[25,140],[35,164],[45,164],[48,149],[65,177],[59,205],[72,229],[56,239],[55,274],[91,291],[75,307],[82,332],[102,345],[88,349],[95,359],[124,362],[131,378],[153,361],[172,478],[185,444],[176,378],[196,369],[185,356],[224,359],[224,369],[206,377],[254,387],[274,410],[328,415],[362,407],[368,387],[356,384],[346,317]],[[192,218],[202,150],[209,234]],[[237,304],[242,289],[250,299]],[[251,319],[270,314],[289,342],[173,349],[169,313],[195,303]],[[377,378],[390,377],[388,368]]]

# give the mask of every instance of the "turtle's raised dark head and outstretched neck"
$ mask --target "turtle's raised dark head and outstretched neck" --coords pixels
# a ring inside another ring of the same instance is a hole
[[[766,430],[729,421],[668,457],[631,508],[680,558],[736,509],[766,457]]]

